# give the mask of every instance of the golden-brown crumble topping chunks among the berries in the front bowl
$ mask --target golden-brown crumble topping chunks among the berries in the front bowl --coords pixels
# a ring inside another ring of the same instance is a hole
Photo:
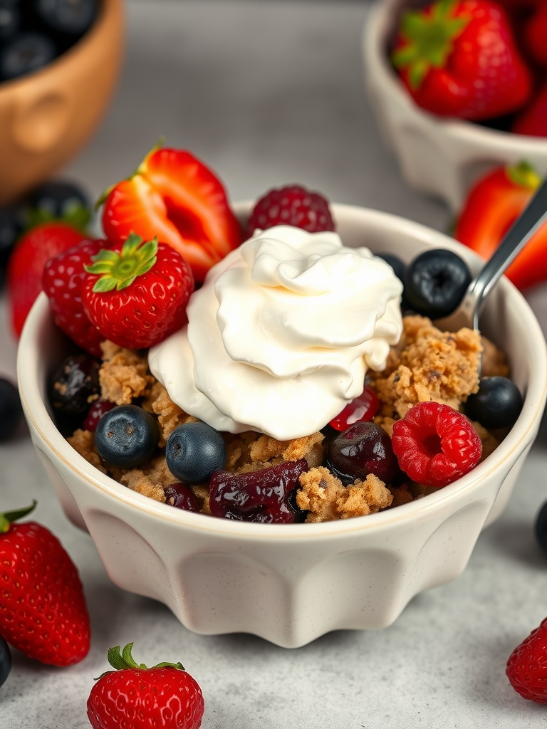
[[[468,329],[441,332],[422,316],[403,319],[403,336],[392,347],[383,372],[369,373],[370,385],[381,402],[373,421],[389,436],[395,422],[417,402],[432,400],[461,409],[462,402],[478,389],[478,364],[482,356],[484,376],[508,376],[503,353],[488,339]],[[119,347],[112,342],[101,345],[104,361],[99,370],[101,399],[117,405],[138,402],[158,420],[160,449],[179,425],[197,422],[168,396],[167,390],[150,374],[145,353]],[[482,460],[498,445],[492,432],[473,422],[483,444]],[[294,440],[276,440],[265,434],[247,431],[222,433],[228,458],[225,469],[247,473],[276,466],[285,461],[306,459],[309,471],[300,475],[296,491],[298,507],[307,512],[306,522],[322,522],[368,515],[420,499],[437,489],[408,482],[402,486],[385,484],[375,475],[344,486],[327,467],[325,436],[321,432]],[[95,446],[94,434],[78,429],[68,439],[72,447],[102,473],[115,478],[133,491],[159,502],[166,501],[164,489],[176,483],[167,467],[165,454],[133,469],[105,467]],[[191,485],[201,513],[210,514],[206,485]]]

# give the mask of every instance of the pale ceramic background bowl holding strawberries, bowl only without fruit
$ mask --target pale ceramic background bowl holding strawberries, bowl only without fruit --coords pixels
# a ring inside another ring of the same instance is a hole
[[[416,190],[440,196],[457,212],[470,185],[494,166],[527,160],[546,176],[547,139],[437,117],[414,103],[387,52],[401,9],[418,4],[378,1],[362,34],[365,89],[406,182]]]

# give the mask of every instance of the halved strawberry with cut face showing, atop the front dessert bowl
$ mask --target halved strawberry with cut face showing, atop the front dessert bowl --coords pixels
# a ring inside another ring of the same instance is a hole
[[[103,211],[112,243],[155,236],[190,263],[196,281],[241,243],[241,227],[220,180],[183,149],[152,149],[130,179],[112,187]]]

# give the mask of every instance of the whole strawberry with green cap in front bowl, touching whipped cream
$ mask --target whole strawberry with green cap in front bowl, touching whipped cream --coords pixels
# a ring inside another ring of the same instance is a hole
[[[180,329],[194,289],[190,265],[166,243],[133,233],[85,266],[84,311],[104,339],[121,347],[151,347]]]

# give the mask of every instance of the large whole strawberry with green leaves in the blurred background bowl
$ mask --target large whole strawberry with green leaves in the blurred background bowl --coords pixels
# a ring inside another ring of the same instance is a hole
[[[489,0],[438,0],[406,12],[392,61],[416,104],[433,114],[498,117],[532,91],[511,23]]]

